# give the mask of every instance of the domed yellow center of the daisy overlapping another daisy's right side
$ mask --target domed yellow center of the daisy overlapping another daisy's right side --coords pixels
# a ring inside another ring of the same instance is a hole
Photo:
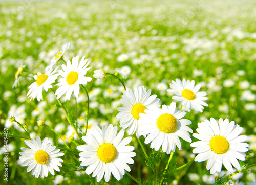
[[[172,114],[164,113],[157,119],[157,128],[161,132],[172,133],[177,128],[177,120]]]

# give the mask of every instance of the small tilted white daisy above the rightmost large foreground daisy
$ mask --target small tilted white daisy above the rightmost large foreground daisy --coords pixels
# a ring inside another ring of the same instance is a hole
[[[201,84],[195,86],[195,81],[192,80],[185,80],[183,79],[182,82],[180,79],[176,78],[176,82],[173,80],[170,83],[170,88],[168,92],[173,92],[175,96],[172,98],[177,101],[181,101],[183,106],[186,106],[189,111],[192,109],[203,112],[204,106],[208,106],[205,100],[208,100],[206,92],[198,92],[201,88]]]

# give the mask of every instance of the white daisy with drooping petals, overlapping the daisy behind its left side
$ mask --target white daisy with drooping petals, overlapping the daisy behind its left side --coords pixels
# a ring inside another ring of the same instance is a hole
[[[191,143],[190,134],[193,132],[190,125],[192,122],[187,119],[181,119],[186,115],[186,112],[176,110],[176,103],[173,102],[170,106],[163,105],[162,109],[155,108],[154,110],[145,110],[145,114],[140,113],[139,121],[142,123],[141,135],[147,135],[145,144],[150,142],[151,148],[156,151],[162,146],[163,152],[170,154],[175,152],[176,146],[181,150],[181,137],[186,142]]]

